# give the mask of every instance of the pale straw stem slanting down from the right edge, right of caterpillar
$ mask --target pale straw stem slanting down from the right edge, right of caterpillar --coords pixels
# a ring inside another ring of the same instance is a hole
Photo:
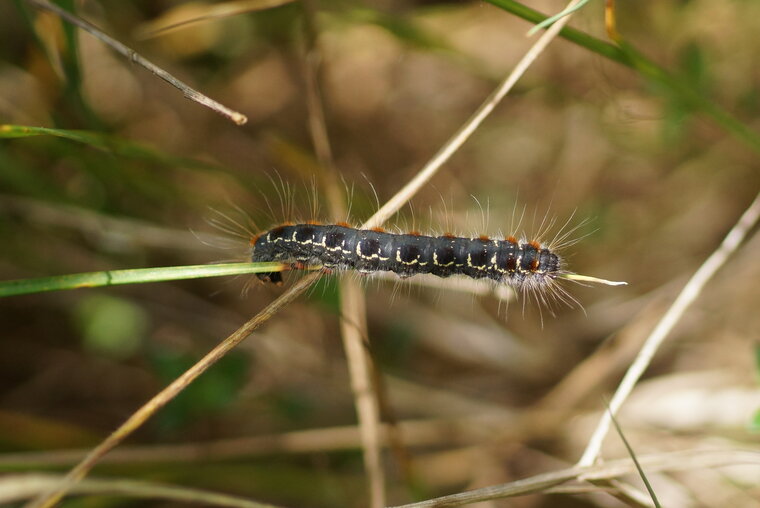
[[[644,371],[649,367],[649,364],[660,345],[662,345],[663,341],[668,336],[668,333],[670,333],[676,323],[678,323],[681,316],[686,312],[686,309],[688,309],[694,300],[701,294],[705,284],[707,284],[712,276],[715,275],[715,272],[717,272],[736,251],[747,236],[747,233],[757,223],[758,217],[760,217],[760,194],[755,197],[755,200],[749,208],[747,208],[744,214],[742,214],[741,218],[731,231],[729,231],[718,249],[707,258],[691,279],[689,279],[689,282],[686,283],[686,286],[684,286],[681,293],[673,302],[673,305],[671,305],[660,322],[657,323],[657,326],[652,333],[644,341],[644,345],[641,347],[638,355],[628,368],[628,371],[620,382],[618,389],[615,391],[612,400],[610,400],[609,411],[604,412],[591,436],[591,439],[589,439],[586,450],[578,461],[579,466],[590,466],[596,461],[602,448],[602,442],[610,429],[612,417],[617,414],[620,407],[631,394],[636,383],[644,374]]]

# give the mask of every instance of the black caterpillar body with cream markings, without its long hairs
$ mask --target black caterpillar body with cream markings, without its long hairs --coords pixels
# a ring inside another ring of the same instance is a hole
[[[554,279],[565,273],[555,252],[536,241],[520,242],[514,237],[425,236],[356,229],[345,223],[302,223],[277,226],[251,243],[253,262],[280,261],[296,268],[322,265],[365,274],[388,271],[401,278],[423,273],[439,277],[461,274],[523,290],[552,286]],[[258,277],[282,281],[279,272]]]

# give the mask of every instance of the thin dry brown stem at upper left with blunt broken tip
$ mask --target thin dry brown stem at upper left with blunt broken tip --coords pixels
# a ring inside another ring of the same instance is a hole
[[[195,101],[198,104],[211,109],[212,111],[222,115],[223,117],[235,122],[237,125],[243,125],[248,121],[248,118],[244,114],[234,111],[228,108],[227,106],[220,104],[216,102],[215,100],[211,99],[210,97],[195,90],[194,88],[191,88],[189,85],[175,78],[174,76],[166,72],[161,67],[157,66],[153,62],[147,60],[146,58],[140,56],[133,49],[125,46],[124,44],[117,41],[113,37],[103,33],[103,31],[98,29],[92,23],[89,23],[88,21],[85,21],[82,18],[71,14],[70,12],[64,9],[61,9],[57,5],[51,4],[47,0],[26,0],[26,2],[29,5],[32,5],[38,9],[44,9],[46,11],[53,12],[59,17],[61,17],[62,19],[71,23],[72,25],[84,30],[85,32],[88,32],[89,34],[93,35],[95,38],[97,38],[98,40],[106,44],[107,46],[110,46],[114,51],[116,51],[120,55],[129,59],[130,62],[134,62],[148,69],[150,72],[152,72],[159,78],[163,79],[164,81],[166,81],[173,87],[178,88],[184,94],[184,96],[190,99],[191,101]]]

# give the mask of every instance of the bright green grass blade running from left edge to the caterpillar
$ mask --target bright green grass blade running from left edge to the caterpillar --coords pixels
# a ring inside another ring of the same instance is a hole
[[[218,265],[169,266],[163,268],[138,268],[132,270],[107,270],[102,272],[75,273],[34,279],[18,279],[0,282],[0,297],[60,291],[63,289],[95,288],[122,284],[141,284],[168,280],[223,277],[248,273],[280,272],[287,269],[281,263],[224,263]]]

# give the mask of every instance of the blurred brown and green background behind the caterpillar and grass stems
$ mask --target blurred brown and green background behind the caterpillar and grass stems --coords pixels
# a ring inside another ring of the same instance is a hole
[[[221,234],[209,219],[222,212],[264,229],[282,221],[281,182],[294,189],[300,217],[312,218],[308,187],[323,170],[308,130],[300,3],[226,2],[258,10],[218,18],[222,3],[59,3],[249,121],[239,127],[186,100],[53,15],[0,3],[0,123],[87,130],[102,141],[0,141],[0,278],[244,260],[244,238],[201,240]],[[555,13],[563,3],[530,6]],[[485,3],[331,0],[315,9],[327,127],[357,224],[533,43],[529,23]],[[189,18],[204,19],[156,32]],[[760,128],[760,4],[620,2],[618,23],[631,45]],[[606,39],[601,2],[571,25]],[[385,456],[389,502],[572,465],[646,334],[760,189],[758,169],[757,153],[682,96],[552,43],[386,226],[508,234],[524,214],[517,233],[530,236],[544,216],[558,226],[570,220],[582,239],[563,252],[569,268],[629,285],[566,285],[582,308],[547,309],[532,301],[507,308],[449,286],[367,281],[383,418],[403,422]],[[317,194],[316,218],[330,220]],[[723,267],[621,413],[637,453],[760,449],[758,250],[751,236]],[[61,450],[98,443],[284,290],[253,284],[243,294],[247,282],[0,301],[0,467],[65,470],[72,459]],[[365,506],[338,314],[334,280],[320,281],[93,475],[287,506]],[[603,455],[627,456],[614,435]],[[757,478],[755,467],[650,480],[671,506],[760,506]],[[602,493],[508,503],[621,506]]]

